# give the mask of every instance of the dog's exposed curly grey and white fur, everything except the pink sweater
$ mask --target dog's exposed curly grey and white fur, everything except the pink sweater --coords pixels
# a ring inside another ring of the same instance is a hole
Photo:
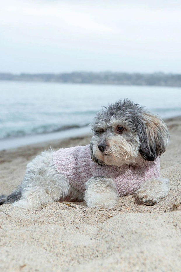
[[[154,161],[165,152],[169,142],[165,123],[128,99],[104,107],[91,125],[91,159],[98,165],[121,168],[139,160]],[[1,196],[0,204],[37,208],[68,198],[85,200],[89,207],[114,208],[119,196],[112,178],[91,177],[82,193],[55,169],[52,157],[52,150],[45,151],[28,163],[22,184],[8,197]],[[151,178],[145,180],[135,196],[143,204],[153,205],[167,193],[168,180]]]

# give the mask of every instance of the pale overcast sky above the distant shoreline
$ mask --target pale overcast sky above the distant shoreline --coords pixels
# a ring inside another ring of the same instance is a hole
[[[181,73],[180,0],[0,5],[0,72]]]

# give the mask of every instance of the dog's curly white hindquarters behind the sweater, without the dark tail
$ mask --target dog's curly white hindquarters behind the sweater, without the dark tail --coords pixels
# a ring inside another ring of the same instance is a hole
[[[81,198],[79,194],[75,192],[77,199]],[[21,197],[15,199],[18,201],[14,200],[13,206],[36,209],[49,202],[63,200],[65,197],[70,196],[74,199],[72,195],[72,187],[53,165],[52,152],[42,152],[27,165],[21,185]]]

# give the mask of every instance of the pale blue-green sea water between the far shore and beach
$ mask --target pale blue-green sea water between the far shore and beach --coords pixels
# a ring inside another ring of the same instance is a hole
[[[175,87],[0,81],[0,96],[1,140],[84,128],[102,106],[124,98],[161,118],[181,116]]]

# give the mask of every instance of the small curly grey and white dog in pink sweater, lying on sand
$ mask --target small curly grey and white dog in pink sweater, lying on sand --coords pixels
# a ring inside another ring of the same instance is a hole
[[[90,145],[45,151],[28,163],[22,184],[0,204],[36,209],[68,199],[113,209],[123,195],[135,193],[145,205],[167,195],[159,157],[169,133],[158,116],[124,99],[103,107],[91,127]]]

